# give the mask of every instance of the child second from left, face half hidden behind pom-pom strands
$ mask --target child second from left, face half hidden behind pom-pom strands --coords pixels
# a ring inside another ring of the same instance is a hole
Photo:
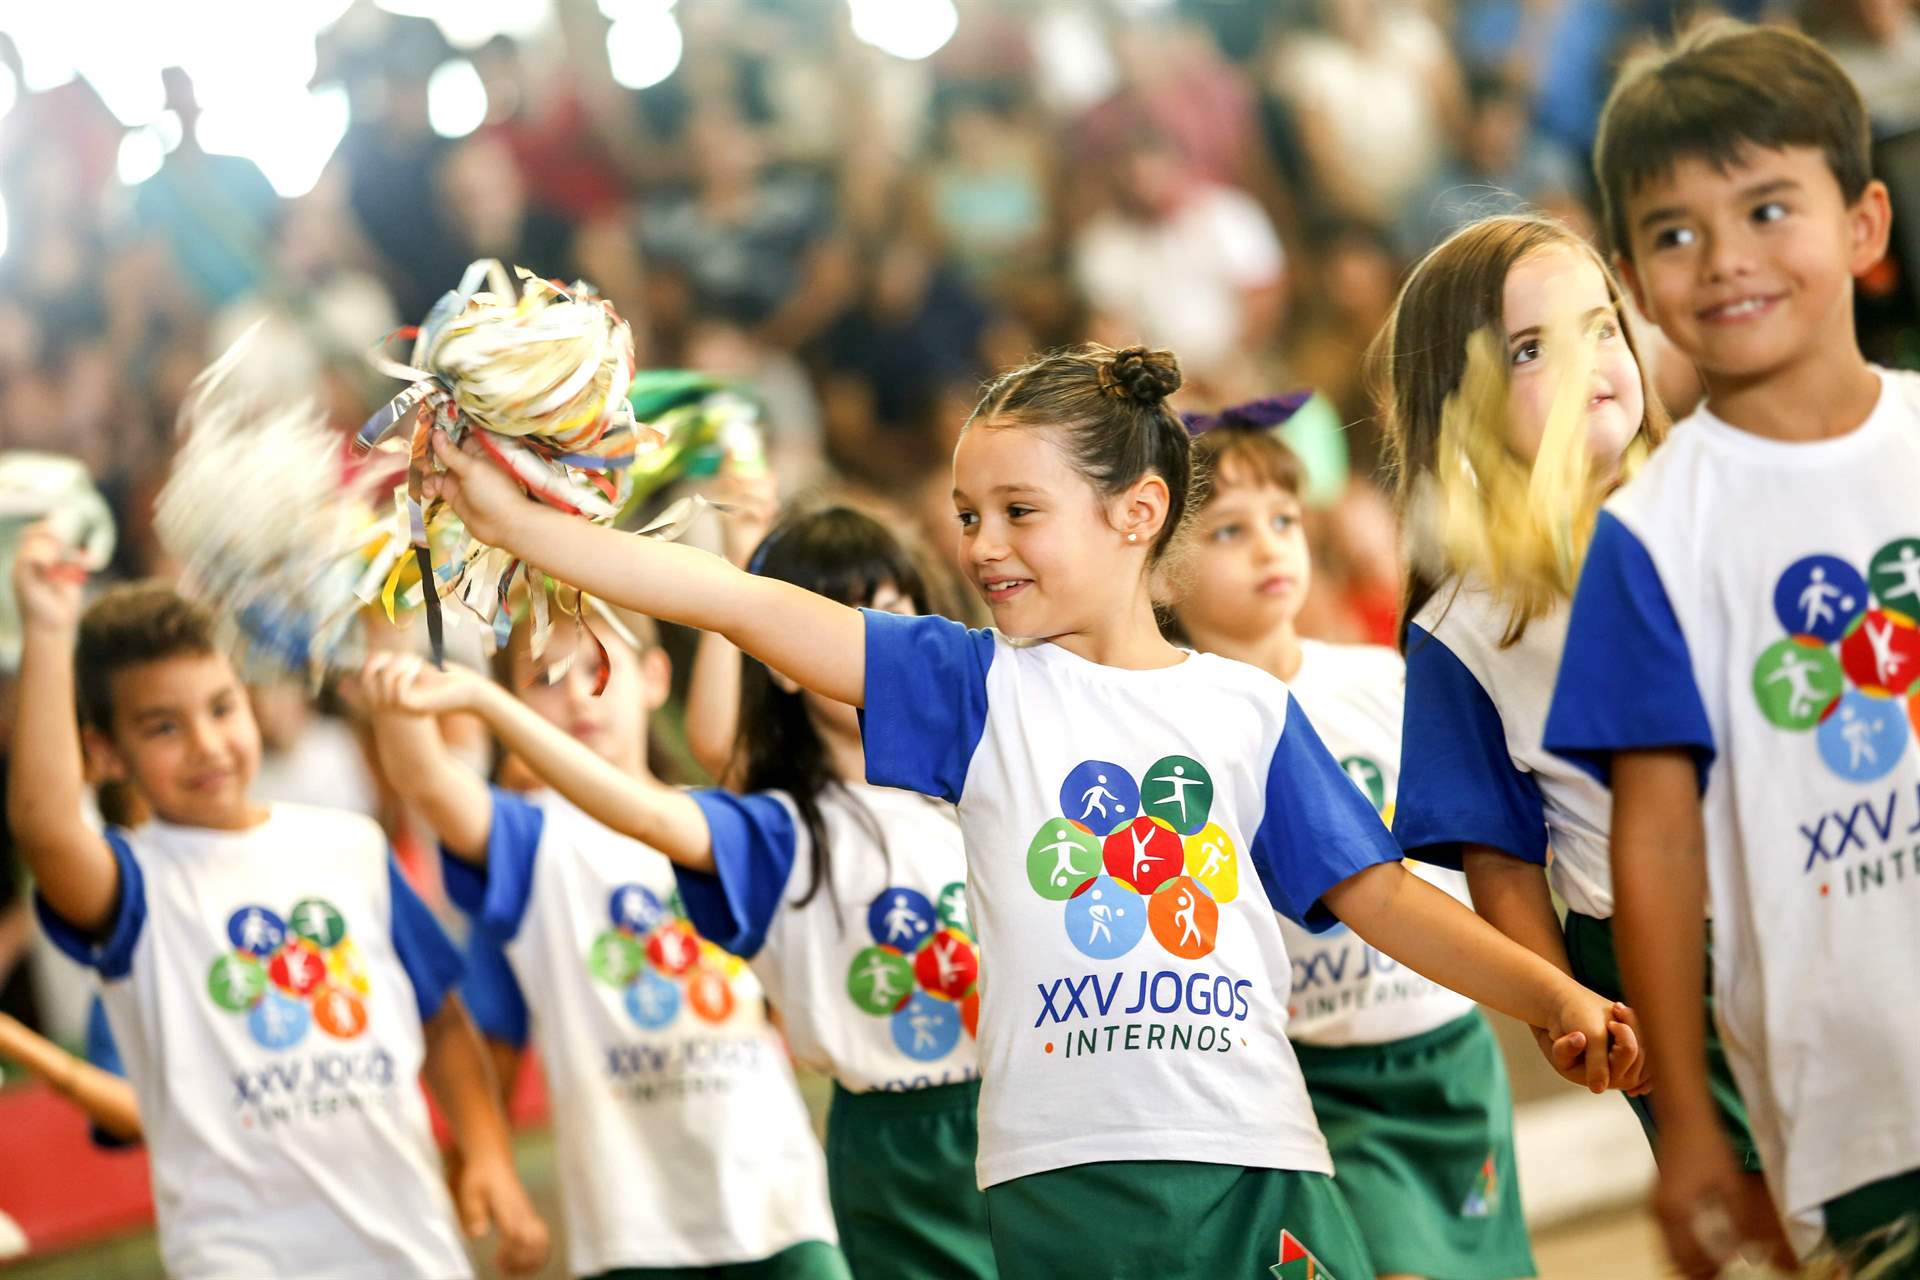
[[[601,647],[563,622],[536,664],[522,624],[497,683],[445,679],[490,722],[584,747],[572,768],[591,785],[634,789],[651,781],[647,716],[668,687],[651,628],[637,635],[643,649]],[[380,764],[438,833],[449,894],[505,952],[516,990],[490,984],[490,1032],[541,1044],[572,1272],[843,1280],[820,1144],[753,975],[693,933],[657,852],[467,770],[399,699],[415,670],[384,654],[363,674]],[[520,737],[501,741],[543,773]]]

